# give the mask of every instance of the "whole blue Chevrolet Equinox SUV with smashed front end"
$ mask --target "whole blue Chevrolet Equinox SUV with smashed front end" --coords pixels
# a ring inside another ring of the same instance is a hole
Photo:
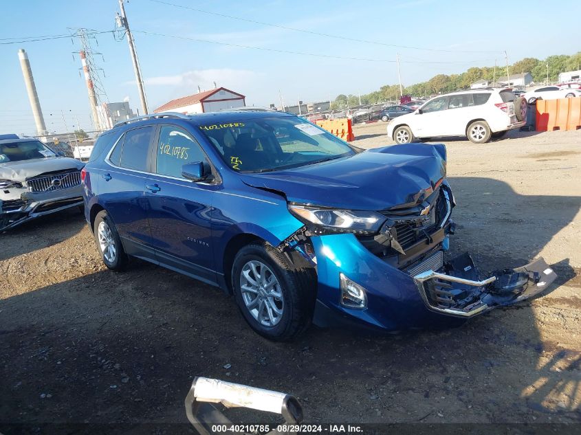
[[[446,148],[362,150],[274,111],[158,113],[98,138],[82,172],[103,262],[129,257],[221,287],[270,339],[311,324],[456,325],[542,291],[542,259],[482,279],[444,260]]]

